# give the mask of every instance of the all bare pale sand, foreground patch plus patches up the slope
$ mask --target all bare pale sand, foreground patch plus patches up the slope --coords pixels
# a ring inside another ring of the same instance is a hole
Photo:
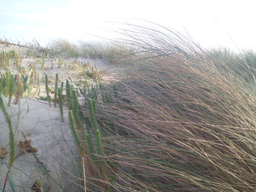
[[[0,50],[15,50],[16,52],[26,53],[28,48],[0,45]],[[23,58],[22,65],[25,69],[33,62],[38,62],[40,58]],[[79,58],[81,62],[90,62],[92,66],[96,66],[105,74],[113,70],[112,66],[108,66],[100,59]],[[68,62],[68,61],[67,61]],[[59,80],[78,80],[78,72],[72,71],[69,66],[63,66],[59,69],[57,61],[45,61],[45,69],[36,64],[36,69],[41,76],[41,87],[45,88],[44,75],[48,74],[50,82],[54,82],[55,74],[59,74]],[[103,75],[104,77],[104,75]],[[107,77],[108,78],[108,77]],[[29,109],[29,111],[28,111]],[[69,129],[67,120],[67,110],[64,111],[65,122],[61,123],[59,108],[49,107],[45,101],[37,99],[22,99],[20,105],[12,104],[8,107],[10,115],[12,115],[12,123],[15,128],[15,145],[17,158],[15,158],[12,167],[11,177],[16,185],[16,191],[27,192],[36,180],[42,181],[45,191],[75,191],[75,153],[76,147],[72,140],[72,134]],[[19,117],[19,120],[18,120]],[[9,146],[8,128],[4,117],[0,111],[0,147]],[[32,153],[22,153],[19,155],[18,142],[24,142],[31,139],[31,147],[37,148],[34,153],[39,161],[45,166],[49,175],[44,174],[42,164],[34,158]],[[0,158],[0,189],[3,186],[4,178],[7,173],[8,155]],[[10,187],[7,188],[10,191]]]

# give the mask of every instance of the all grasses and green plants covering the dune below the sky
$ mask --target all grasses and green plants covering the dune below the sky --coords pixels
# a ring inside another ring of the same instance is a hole
[[[8,146],[0,145],[9,164],[1,190],[19,190],[9,177],[16,142],[8,106],[34,97],[69,123],[77,191],[256,191],[256,53],[206,50],[167,28],[125,34],[121,42],[59,40],[0,53],[10,130]],[[25,56],[35,62],[22,66]],[[114,68],[102,72],[79,58]],[[54,67],[74,74],[48,75]],[[31,190],[44,191],[39,183]]]

